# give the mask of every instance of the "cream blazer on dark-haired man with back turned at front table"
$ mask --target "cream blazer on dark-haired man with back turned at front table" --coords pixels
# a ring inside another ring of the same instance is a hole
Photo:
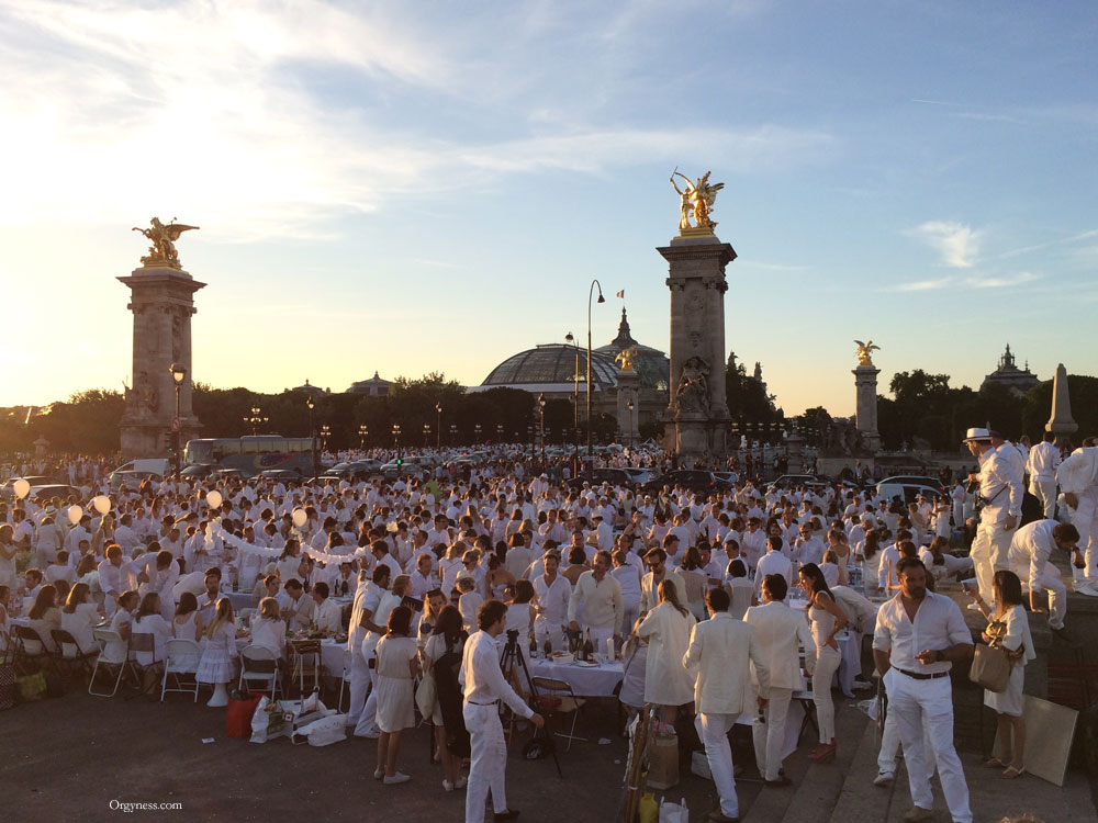
[[[759,694],[769,697],[766,661],[750,625],[719,611],[695,625],[683,655],[683,665],[695,677],[695,710],[705,714],[742,714],[753,709],[749,662],[758,672]]]

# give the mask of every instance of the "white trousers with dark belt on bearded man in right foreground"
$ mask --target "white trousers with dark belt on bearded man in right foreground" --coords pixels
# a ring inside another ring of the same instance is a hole
[[[920,809],[934,808],[933,791],[927,778],[926,735],[938,760],[942,793],[954,823],[972,823],[968,785],[961,758],[953,747],[953,689],[950,678],[917,680],[889,668],[885,674],[885,689],[888,691],[888,713],[896,718],[904,746],[911,802]]]

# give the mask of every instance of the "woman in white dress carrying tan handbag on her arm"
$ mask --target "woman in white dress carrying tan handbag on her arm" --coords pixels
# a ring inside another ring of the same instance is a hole
[[[1026,664],[1037,657],[1033,636],[1030,634],[1029,616],[1022,606],[1022,584],[1013,572],[999,571],[991,578],[995,609],[988,606],[975,589],[965,589],[987,618],[988,631],[984,642],[991,640],[991,624],[1006,624],[997,632],[1002,647],[1017,655],[1010,669],[1010,679],[1002,692],[984,691],[984,704],[990,707],[999,722],[999,755],[987,762],[993,768],[1004,768],[1002,777],[1015,778],[1026,771],[1026,719],[1022,717],[1022,687],[1026,685]]]

